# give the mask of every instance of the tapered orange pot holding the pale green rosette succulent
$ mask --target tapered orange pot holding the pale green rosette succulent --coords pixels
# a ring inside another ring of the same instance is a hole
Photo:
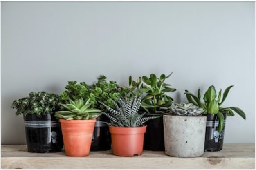
[[[60,122],[66,155],[88,156],[96,119],[69,121],[60,119]]]

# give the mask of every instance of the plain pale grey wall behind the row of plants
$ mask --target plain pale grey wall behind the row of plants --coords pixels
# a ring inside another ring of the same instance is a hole
[[[234,85],[224,103],[225,143],[254,143],[254,2],[1,2],[1,142],[26,143],[10,108],[31,91],[61,93],[67,81],[155,73],[184,90]]]

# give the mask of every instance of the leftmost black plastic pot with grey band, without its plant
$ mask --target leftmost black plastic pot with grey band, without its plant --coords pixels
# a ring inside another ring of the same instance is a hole
[[[61,152],[63,148],[61,125],[53,113],[40,117],[36,114],[27,114],[23,115],[23,118],[28,152]]]

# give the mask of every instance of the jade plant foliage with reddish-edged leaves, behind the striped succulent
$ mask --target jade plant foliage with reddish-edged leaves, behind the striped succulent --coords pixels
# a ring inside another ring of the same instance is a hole
[[[172,73],[171,73],[172,74]],[[132,93],[139,92],[146,94],[142,98],[141,107],[148,113],[165,113],[169,111],[169,107],[173,102],[173,98],[168,96],[166,92],[174,92],[176,89],[171,88],[170,84],[164,81],[171,76],[162,74],[159,78],[155,74],[150,74],[150,77],[142,76],[137,82],[129,77],[129,89]],[[142,83],[141,83],[142,82]]]

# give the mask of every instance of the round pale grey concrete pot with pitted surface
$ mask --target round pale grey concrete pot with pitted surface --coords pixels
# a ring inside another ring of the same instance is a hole
[[[206,116],[164,115],[165,154],[200,157],[204,154]]]

